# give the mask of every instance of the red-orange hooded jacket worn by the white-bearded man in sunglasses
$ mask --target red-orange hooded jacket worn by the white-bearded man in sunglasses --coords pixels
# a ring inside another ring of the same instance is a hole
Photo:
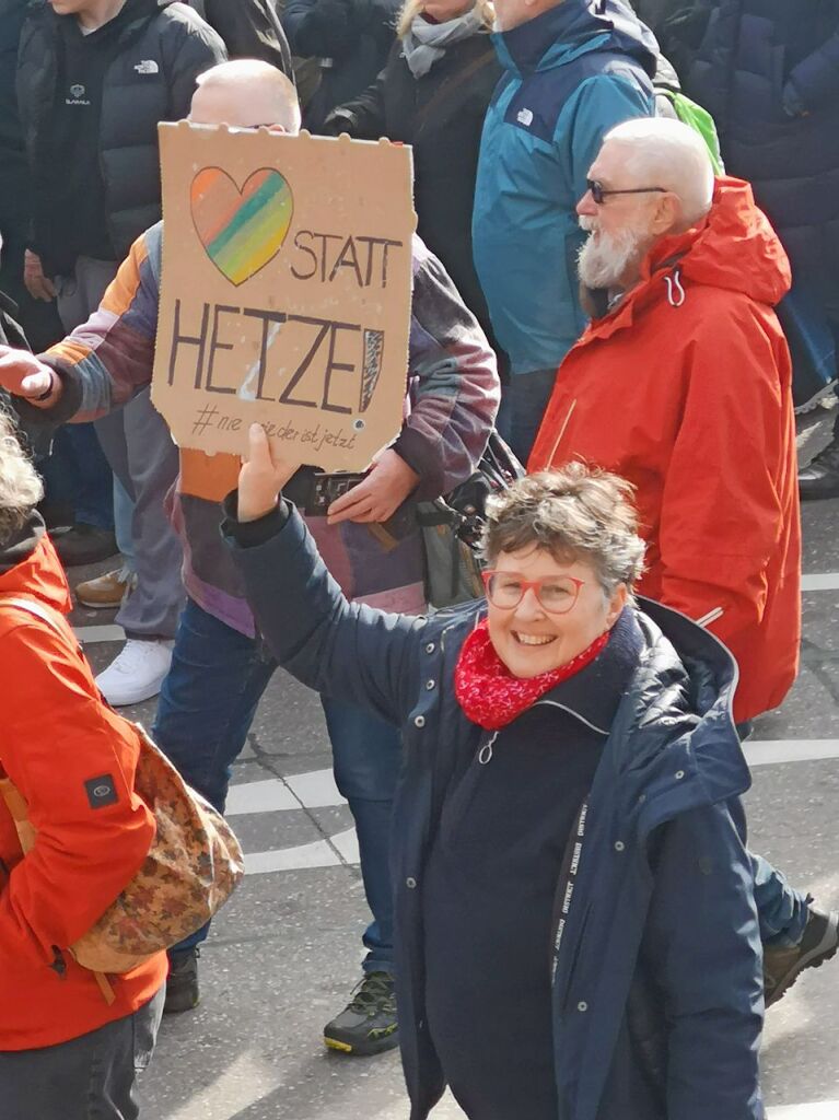
[[[730,648],[737,720],[780,704],[798,672],[795,426],[773,310],[789,287],[751,187],[719,179],[708,218],[656,244],[568,354],[529,463],[581,458],[635,484],[640,590]]]

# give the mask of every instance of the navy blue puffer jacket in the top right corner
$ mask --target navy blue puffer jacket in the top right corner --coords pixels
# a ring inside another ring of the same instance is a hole
[[[723,0],[686,78],[751,179],[793,280],[839,318],[839,0]]]

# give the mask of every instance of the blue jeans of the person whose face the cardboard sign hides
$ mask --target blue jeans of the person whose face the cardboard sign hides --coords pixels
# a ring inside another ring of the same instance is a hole
[[[171,669],[160,690],[152,736],[184,778],[223,811],[231,765],[248,738],[277,662],[252,638],[192,599],[180,616]],[[349,704],[324,700],[335,782],[355,819],[364,892],[373,922],[364,934],[365,971],[393,971],[390,820],[399,774],[397,728]],[[177,949],[204,941],[208,926]]]

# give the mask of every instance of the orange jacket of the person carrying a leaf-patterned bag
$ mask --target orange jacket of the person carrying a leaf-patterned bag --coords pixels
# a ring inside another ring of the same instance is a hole
[[[48,538],[0,568],[0,595],[36,598],[59,614],[69,609]],[[38,831],[22,858],[0,799],[0,1051],[50,1046],[95,1030],[141,1007],[166,977],[160,953],[112,979],[116,998],[109,1006],[93,973],[63,951],[139,869],[155,822],[132,793],[137,732],[102,700],[73,632],[58,623],[67,642],[0,599],[0,765]],[[112,793],[93,808],[93,787],[103,783]]]

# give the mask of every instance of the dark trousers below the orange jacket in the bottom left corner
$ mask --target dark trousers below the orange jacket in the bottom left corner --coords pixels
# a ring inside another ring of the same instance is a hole
[[[0,1051],[2,1120],[137,1120],[137,1074],[149,1064],[162,1010],[161,988],[139,1011],[99,1030],[57,1046]]]

